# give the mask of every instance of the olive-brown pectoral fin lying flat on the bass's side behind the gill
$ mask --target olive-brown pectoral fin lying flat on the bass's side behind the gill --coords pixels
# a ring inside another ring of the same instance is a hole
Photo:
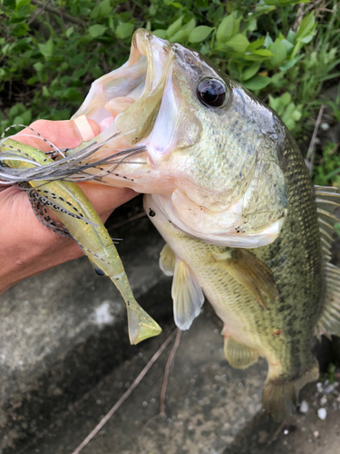
[[[267,309],[267,301],[277,300],[277,285],[274,276],[264,262],[251,252],[241,249],[227,250],[215,258],[223,262],[228,273]]]

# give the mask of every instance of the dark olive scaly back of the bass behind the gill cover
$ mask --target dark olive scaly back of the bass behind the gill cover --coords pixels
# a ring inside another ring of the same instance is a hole
[[[280,356],[288,376],[282,379],[294,380],[312,361],[311,340],[323,309],[325,281],[314,187],[289,133],[280,161],[287,185],[287,220],[275,242],[252,252],[273,272],[278,290],[278,301],[268,305],[268,312],[282,332],[267,336],[266,342],[273,350],[285,350]]]

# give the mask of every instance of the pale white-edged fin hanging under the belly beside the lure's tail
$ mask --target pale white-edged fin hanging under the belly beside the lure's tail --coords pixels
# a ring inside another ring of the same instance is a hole
[[[199,315],[204,295],[188,265],[180,259],[175,262],[171,296],[176,325],[180,330],[189,330],[192,321]]]

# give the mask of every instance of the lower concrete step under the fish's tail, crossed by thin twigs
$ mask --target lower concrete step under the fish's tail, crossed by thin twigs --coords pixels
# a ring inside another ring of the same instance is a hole
[[[71,454],[128,388],[169,331],[143,346],[63,414],[60,427],[54,424],[20,454]],[[261,360],[248,370],[233,370],[224,359],[222,346],[216,323],[204,311],[191,329],[182,333],[170,372],[166,418],[160,417],[160,390],[170,347],[83,454],[223,452],[260,410],[267,366]]]

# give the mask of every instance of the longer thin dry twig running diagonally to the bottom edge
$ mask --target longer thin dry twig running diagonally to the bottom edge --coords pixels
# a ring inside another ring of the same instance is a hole
[[[131,392],[135,388],[137,388],[137,386],[141,383],[141,380],[144,378],[144,376],[151,369],[152,365],[160,358],[161,353],[168,347],[170,342],[175,337],[176,333],[177,333],[176,330],[171,332],[170,336],[166,339],[166,341],[164,341],[160,345],[159,350],[157,350],[156,353],[152,356],[152,358],[148,362],[148,364],[144,367],[143,370],[141,370],[141,373],[139,374],[139,376],[131,383],[130,388],[124,392],[124,394],[121,396],[121,399],[117,400],[117,402],[113,405],[112,409],[100,420],[100,422],[89,433],[89,435],[86,437],[86,439],[83,439],[82,443],[78,446],[78,448],[74,449],[73,454],[79,454],[80,451],[93,439],[93,437],[95,437],[97,435],[97,433],[102,429],[102,427],[112,417],[113,413],[115,413],[121,407],[121,404],[125,400],[128,399],[128,397],[131,395]]]

